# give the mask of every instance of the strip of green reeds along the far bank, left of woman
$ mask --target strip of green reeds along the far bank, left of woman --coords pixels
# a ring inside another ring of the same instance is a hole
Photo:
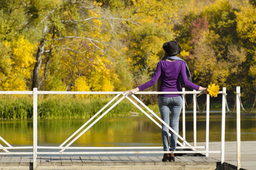
[[[110,100],[111,98],[108,97],[38,96],[38,118],[90,118],[100,111]],[[107,108],[104,111],[106,110]],[[121,101],[105,116],[124,116],[134,111],[138,112],[137,108],[124,99],[124,101]],[[16,120],[31,118],[33,118],[33,98],[31,96],[1,96],[0,119]]]

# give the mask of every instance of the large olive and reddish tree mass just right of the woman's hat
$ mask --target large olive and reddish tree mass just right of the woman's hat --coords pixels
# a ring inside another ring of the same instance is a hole
[[[252,91],[250,73],[254,69],[248,59],[252,62],[253,57],[248,52],[254,48],[249,41],[253,35],[253,24],[245,19],[245,11],[253,14],[248,12],[252,10],[243,8],[245,6],[234,8],[228,0],[213,1],[200,13],[186,13],[181,24],[175,26],[174,30],[178,34],[176,40],[188,52],[183,53],[187,55],[184,59],[188,62],[196,84],[207,86],[213,82],[227,87],[228,92],[234,91],[235,86]],[[250,67],[247,67],[248,64]],[[233,98],[233,93],[228,97]]]

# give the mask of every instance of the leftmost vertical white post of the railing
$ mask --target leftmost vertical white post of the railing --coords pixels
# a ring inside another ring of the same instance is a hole
[[[36,169],[37,157],[37,111],[38,111],[38,94],[37,88],[33,88],[33,169]]]

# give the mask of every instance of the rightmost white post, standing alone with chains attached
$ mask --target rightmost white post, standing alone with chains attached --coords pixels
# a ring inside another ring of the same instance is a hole
[[[240,86],[236,87],[236,103],[237,103],[237,156],[238,156],[238,169],[241,168],[241,138],[240,138]]]

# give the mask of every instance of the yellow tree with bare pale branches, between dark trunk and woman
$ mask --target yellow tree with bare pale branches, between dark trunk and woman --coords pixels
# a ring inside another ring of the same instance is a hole
[[[117,47],[120,47],[117,43],[117,26],[124,25],[123,22],[129,19],[114,17],[97,3],[81,1],[74,4],[68,1],[48,16],[48,21],[48,28],[51,29],[46,36],[49,43],[45,45],[45,51],[49,53],[44,53],[46,64],[43,79],[41,78],[45,87],[60,86],[60,89],[63,89],[64,83],[65,90],[78,90],[75,86],[82,86],[83,82],[92,91],[112,91],[116,81],[123,81],[119,78],[126,79],[119,77],[115,71],[119,65],[117,60],[123,57],[118,56],[119,52],[116,51]],[[50,55],[53,57],[49,58]],[[57,76],[57,72],[51,70],[55,67],[47,65],[49,59],[51,62],[58,61],[62,66],[58,68],[58,82],[61,80],[62,83],[54,83],[57,80],[53,77]],[[36,75],[39,76],[40,72]],[[129,84],[124,85],[127,88],[130,87]]]

